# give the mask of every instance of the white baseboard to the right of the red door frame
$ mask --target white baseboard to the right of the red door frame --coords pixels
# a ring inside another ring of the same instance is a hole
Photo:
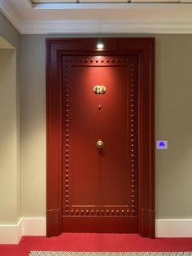
[[[192,219],[156,219],[156,237],[192,237]]]

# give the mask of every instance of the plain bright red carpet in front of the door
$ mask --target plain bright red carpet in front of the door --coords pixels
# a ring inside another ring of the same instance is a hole
[[[129,234],[24,236],[19,245],[0,245],[1,256],[28,256],[30,250],[60,251],[192,251],[191,238],[142,238]]]

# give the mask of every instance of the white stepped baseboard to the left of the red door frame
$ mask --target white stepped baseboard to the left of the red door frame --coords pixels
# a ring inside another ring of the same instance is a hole
[[[20,218],[15,225],[0,225],[0,244],[18,244],[22,236],[46,236],[46,218]]]

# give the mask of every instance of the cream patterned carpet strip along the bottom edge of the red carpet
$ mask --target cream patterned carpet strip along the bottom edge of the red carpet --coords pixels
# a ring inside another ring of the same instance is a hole
[[[192,252],[59,252],[31,251],[29,256],[192,256]]]

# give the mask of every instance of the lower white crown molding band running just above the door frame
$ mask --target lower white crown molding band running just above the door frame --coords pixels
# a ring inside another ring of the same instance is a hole
[[[49,20],[24,23],[22,34],[45,33],[192,33],[187,22],[157,20]]]

